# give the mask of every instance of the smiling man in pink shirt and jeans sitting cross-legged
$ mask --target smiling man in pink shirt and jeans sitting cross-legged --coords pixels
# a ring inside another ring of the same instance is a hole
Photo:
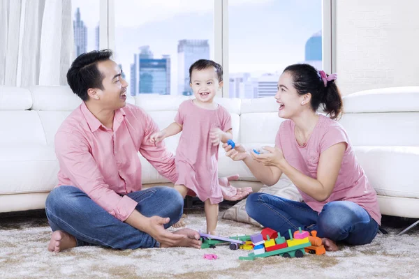
[[[59,186],[47,197],[52,228],[48,250],[98,245],[119,249],[187,246],[200,248],[192,229],[168,232],[182,216],[183,199],[170,187],[141,190],[138,151],[170,181],[175,160],[149,135],[158,127],[135,105],[126,104],[128,84],[109,50],[82,54],[67,73],[83,103],[55,136]]]

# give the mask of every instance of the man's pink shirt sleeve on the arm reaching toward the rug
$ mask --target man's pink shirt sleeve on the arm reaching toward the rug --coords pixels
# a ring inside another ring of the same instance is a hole
[[[121,197],[105,183],[96,161],[89,152],[89,145],[84,142],[82,135],[57,133],[55,153],[61,172],[71,180],[73,186],[80,188],[115,218],[125,221],[131,215],[137,202],[127,196]]]

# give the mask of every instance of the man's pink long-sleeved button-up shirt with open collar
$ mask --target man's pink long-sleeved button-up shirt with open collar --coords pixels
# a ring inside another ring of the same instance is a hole
[[[175,156],[163,143],[149,142],[156,131],[152,118],[135,105],[116,110],[109,129],[82,103],[55,135],[58,186],[80,188],[112,216],[126,220],[137,206],[126,194],[142,188],[138,151],[161,175],[177,179]]]

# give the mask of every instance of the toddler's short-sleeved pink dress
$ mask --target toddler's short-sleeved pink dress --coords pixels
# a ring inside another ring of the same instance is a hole
[[[175,121],[183,127],[175,157],[176,185],[186,186],[202,201],[210,199],[211,204],[219,204],[223,201],[218,179],[219,145],[212,145],[210,131],[230,130],[230,114],[221,105],[206,110],[186,100],[179,106]]]

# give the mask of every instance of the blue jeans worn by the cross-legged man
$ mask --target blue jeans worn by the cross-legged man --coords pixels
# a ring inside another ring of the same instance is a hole
[[[167,229],[182,217],[183,199],[170,187],[153,187],[127,194],[138,202],[142,215],[169,217]],[[106,246],[117,249],[159,247],[152,236],[110,215],[79,188],[54,188],[45,202],[52,231],[62,230],[75,237],[77,246]]]

